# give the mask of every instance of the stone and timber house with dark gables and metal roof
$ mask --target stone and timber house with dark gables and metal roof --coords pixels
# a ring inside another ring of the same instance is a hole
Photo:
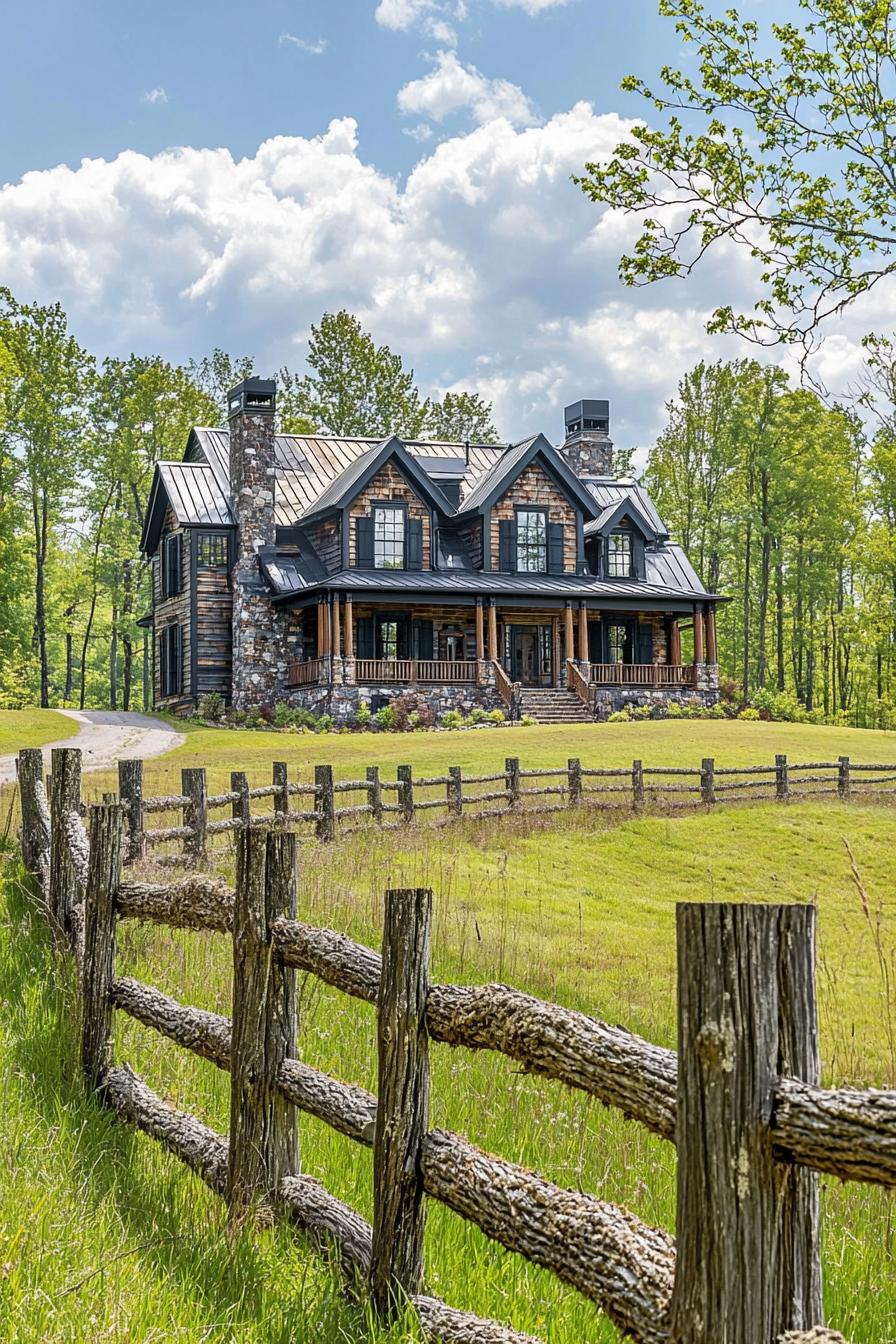
[[[412,694],[437,714],[587,720],[717,699],[723,599],[614,476],[607,402],[567,407],[557,448],[277,434],[274,418],[274,383],[246,379],[227,430],[193,429],[156,466],[157,708],[216,691],[347,722]]]

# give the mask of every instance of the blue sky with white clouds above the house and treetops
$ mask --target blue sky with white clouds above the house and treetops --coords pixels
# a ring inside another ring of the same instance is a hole
[[[645,113],[622,77],[682,59],[656,0],[36,0],[4,39],[0,282],[97,353],[300,367],[348,306],[508,437],[609,395],[643,448],[686,368],[746,352],[704,323],[748,261],[625,290],[631,224],[570,181]]]

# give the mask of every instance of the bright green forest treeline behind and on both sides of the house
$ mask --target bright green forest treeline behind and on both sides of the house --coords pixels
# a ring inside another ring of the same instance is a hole
[[[142,708],[156,461],[226,422],[254,368],[220,349],[176,366],[97,360],[59,305],[0,290],[0,707]],[[349,313],[274,371],[283,431],[496,442],[470,392],[420,395]],[[625,462],[629,454],[618,454]],[[731,699],[896,726],[896,347],[873,340],[848,406],[756,360],[699,364],[666,407],[646,484],[707,587]]]

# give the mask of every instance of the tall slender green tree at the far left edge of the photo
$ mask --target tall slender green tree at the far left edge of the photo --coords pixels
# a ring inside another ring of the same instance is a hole
[[[34,648],[40,704],[50,704],[47,560],[54,526],[71,508],[83,465],[85,394],[93,360],[59,304],[19,304],[0,289],[0,344],[12,376],[0,384],[0,434],[27,500],[34,558]]]

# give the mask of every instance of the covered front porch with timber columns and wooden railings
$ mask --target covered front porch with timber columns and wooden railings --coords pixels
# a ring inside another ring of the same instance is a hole
[[[489,685],[697,688],[716,663],[715,613],[614,610],[596,599],[469,601],[326,594],[290,613],[287,688]],[[692,657],[682,659],[682,630]]]

